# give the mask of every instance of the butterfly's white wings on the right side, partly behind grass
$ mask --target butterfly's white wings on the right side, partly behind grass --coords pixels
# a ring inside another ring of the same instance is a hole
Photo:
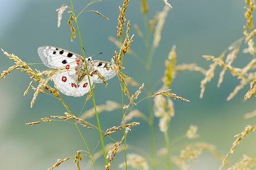
[[[114,70],[112,70],[112,63],[106,61],[93,61],[93,69],[98,70],[102,76],[105,77],[105,81],[112,79],[116,74]],[[94,75],[94,82],[101,83],[102,80],[99,79],[98,75]]]

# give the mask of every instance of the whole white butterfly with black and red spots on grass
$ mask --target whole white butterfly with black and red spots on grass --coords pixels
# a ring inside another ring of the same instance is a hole
[[[102,75],[104,80],[112,79],[116,75],[115,71],[112,70],[111,62],[92,60],[91,57],[84,61],[83,56],[59,47],[42,46],[38,48],[37,53],[47,67],[63,70],[54,76],[53,81],[55,87],[68,96],[83,96],[89,92],[88,74],[91,85],[94,82],[103,82],[99,75]],[[89,70],[87,74],[85,62]]]

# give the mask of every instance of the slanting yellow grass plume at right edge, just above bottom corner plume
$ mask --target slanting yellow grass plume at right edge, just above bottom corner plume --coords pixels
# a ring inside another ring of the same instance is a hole
[[[230,156],[230,154],[232,154],[232,153],[235,151],[236,147],[239,145],[239,143],[241,142],[241,140],[243,140],[245,137],[247,137],[247,135],[248,135],[249,133],[254,132],[255,129],[256,129],[256,125],[254,125],[254,126],[247,125],[247,126],[244,128],[243,132],[241,132],[240,134],[236,134],[236,135],[234,136],[234,137],[236,138],[236,140],[235,140],[235,142],[233,143],[231,149],[229,150],[229,153],[226,154],[225,158],[223,159],[223,162],[222,162],[222,164],[221,164],[220,169],[225,166],[226,162],[228,161],[228,157]]]

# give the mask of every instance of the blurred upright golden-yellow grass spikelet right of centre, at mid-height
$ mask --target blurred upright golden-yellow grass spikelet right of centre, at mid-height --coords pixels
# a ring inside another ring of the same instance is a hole
[[[168,59],[165,61],[165,76],[162,79],[166,88],[170,87],[175,76],[176,57],[176,46],[172,46]]]

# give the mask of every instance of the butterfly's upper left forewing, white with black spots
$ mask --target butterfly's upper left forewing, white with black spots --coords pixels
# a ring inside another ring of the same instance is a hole
[[[38,48],[37,52],[42,62],[52,69],[66,67],[67,70],[69,68],[74,69],[74,67],[79,64],[79,61],[82,60],[80,55],[59,47],[42,46]]]

